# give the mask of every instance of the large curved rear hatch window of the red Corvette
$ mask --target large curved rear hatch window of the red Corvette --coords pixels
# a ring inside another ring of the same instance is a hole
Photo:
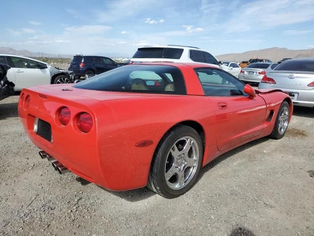
[[[168,65],[126,65],[73,87],[102,91],[186,94],[181,71]]]

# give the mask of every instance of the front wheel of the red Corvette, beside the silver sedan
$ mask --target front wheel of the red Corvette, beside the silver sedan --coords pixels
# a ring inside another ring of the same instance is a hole
[[[290,106],[288,102],[284,101],[279,108],[273,131],[269,136],[270,138],[281,139],[285,136],[289,123],[289,115]]]

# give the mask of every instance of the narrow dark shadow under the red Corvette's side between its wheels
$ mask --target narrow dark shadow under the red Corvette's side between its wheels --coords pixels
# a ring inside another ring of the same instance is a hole
[[[238,152],[241,152],[241,151],[246,150],[248,148],[252,148],[252,147],[254,147],[256,145],[259,145],[259,144],[262,144],[262,143],[264,143],[264,142],[266,142],[268,140],[269,140],[269,138],[267,138],[267,137],[264,137],[264,138],[261,138],[261,139],[258,139],[258,140],[254,140],[254,141],[252,141],[250,143],[247,143],[247,144],[244,144],[244,145],[242,145],[242,146],[240,146],[238,148],[232,149],[232,150],[222,154],[221,156],[218,156],[216,159],[214,159],[213,161],[209,162],[209,164],[207,164],[204,168],[202,168],[200,170],[200,174],[199,174],[199,176],[196,179],[196,183],[203,177],[203,175],[206,172],[208,172],[215,165],[218,165],[220,162],[226,160],[227,158],[235,155]]]

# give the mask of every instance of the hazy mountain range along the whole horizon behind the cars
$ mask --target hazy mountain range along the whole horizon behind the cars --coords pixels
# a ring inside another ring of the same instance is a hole
[[[72,58],[73,55],[66,54],[48,54],[42,52],[29,52],[27,50],[14,50],[8,47],[0,47],[0,54],[12,54],[21,55],[25,57],[43,57],[43,58]],[[91,54],[89,54],[91,55]],[[130,58],[130,55],[124,55],[122,53],[95,53],[97,56],[106,56],[110,58]],[[222,61],[235,61],[241,62],[249,59],[270,59],[273,62],[277,62],[283,58],[314,58],[314,48],[304,50],[290,50],[288,48],[266,48],[261,50],[248,51],[244,53],[231,53],[216,56]]]

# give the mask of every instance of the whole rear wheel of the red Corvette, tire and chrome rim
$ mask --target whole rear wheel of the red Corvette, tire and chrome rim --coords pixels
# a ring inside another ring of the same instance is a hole
[[[154,154],[148,187],[166,198],[176,198],[194,184],[203,159],[202,141],[191,127],[180,125],[160,141]]]

